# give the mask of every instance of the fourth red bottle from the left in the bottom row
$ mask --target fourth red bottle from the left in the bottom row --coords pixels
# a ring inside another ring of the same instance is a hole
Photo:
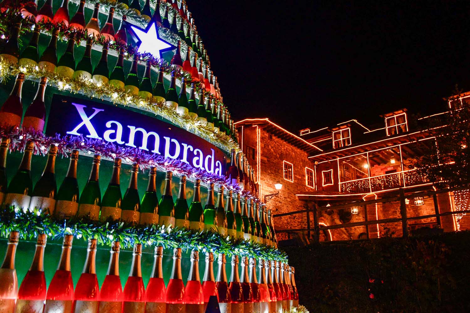
[[[98,313],[100,287],[96,278],[96,239],[88,239],[85,266],[73,296],[74,313]]]

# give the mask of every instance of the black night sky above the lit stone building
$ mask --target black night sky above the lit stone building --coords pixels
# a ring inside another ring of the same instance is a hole
[[[305,4],[309,2],[310,4]],[[235,121],[288,130],[426,114],[470,89],[467,1],[194,1],[188,8]]]

